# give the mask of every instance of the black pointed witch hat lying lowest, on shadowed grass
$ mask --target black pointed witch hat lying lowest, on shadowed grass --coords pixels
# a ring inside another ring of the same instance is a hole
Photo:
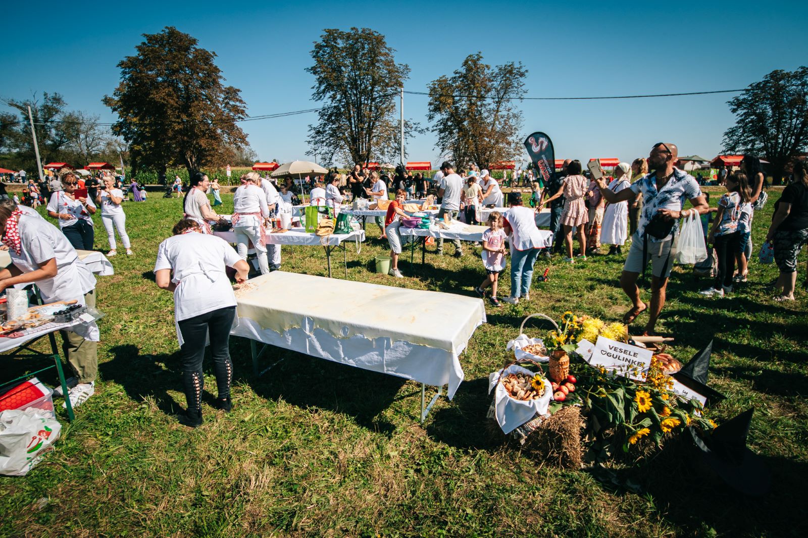
[[[727,485],[749,495],[762,495],[772,479],[760,456],[747,448],[752,409],[731,418],[712,432],[700,435],[688,428],[702,462]]]

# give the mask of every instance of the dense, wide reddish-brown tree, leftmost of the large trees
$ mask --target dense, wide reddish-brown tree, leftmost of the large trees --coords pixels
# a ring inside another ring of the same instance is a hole
[[[144,34],[137,55],[125,57],[120,84],[103,103],[119,120],[112,132],[129,144],[133,166],[162,173],[166,166],[188,170],[222,166],[232,145],[246,145],[235,122],[246,115],[240,90],[225,86],[213,63],[216,53],[175,27]]]

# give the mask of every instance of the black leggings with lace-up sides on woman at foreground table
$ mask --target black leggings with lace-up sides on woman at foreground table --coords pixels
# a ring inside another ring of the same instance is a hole
[[[219,398],[230,396],[230,381],[233,380],[233,363],[230,361],[230,328],[236,307],[200,314],[179,322],[179,330],[183,334],[183,347],[180,349],[183,362],[183,386],[188,409],[200,410],[202,406],[202,359],[204,359],[205,334],[210,336],[210,355],[213,358],[213,371],[216,373],[216,385]]]

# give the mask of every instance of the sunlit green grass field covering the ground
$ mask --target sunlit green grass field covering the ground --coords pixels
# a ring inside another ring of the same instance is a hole
[[[755,250],[778,196],[772,191],[755,216]],[[228,196],[223,212],[231,208]],[[710,384],[728,396],[714,418],[755,406],[748,444],[764,457],[774,485],[763,498],[744,498],[705,479],[676,451],[559,471],[486,435],[487,376],[508,358],[505,344],[522,319],[571,309],[618,320],[628,308],[617,287],[618,257],[574,266],[557,257],[551,280],[534,284],[529,303],[486,306],[488,323],[461,355],[465,382],[423,427],[414,382],[282,349],[269,359],[283,360],[255,378],[241,338],[231,341],[234,411],[217,412],[208,395],[203,427],[183,427],[175,417],[185,404],[173,299],[151,273],[180,201],[153,195],[125,210],[136,255],[112,258],[116,274],[99,277],[107,317],[95,396],[78,408],[76,422],[65,422],[55,452],[32,473],[0,477],[0,536],[806,534],[808,306],[802,291],[793,303],[772,301],[763,286],[775,278],[774,266],[751,263],[749,284],[724,299],[698,295],[708,283],[675,267],[658,326],[675,335],[672,352],[683,361],[714,338]],[[95,245],[106,251],[100,222],[96,230]],[[373,258],[388,251],[377,232],[369,224],[361,252],[349,251],[352,280],[472,296],[484,276],[471,248],[461,259],[427,253],[423,269],[405,261],[403,280],[377,275]],[[326,275],[322,249],[284,247],[283,256],[286,271]],[[800,260],[801,282],[805,254]],[[537,271],[545,265],[540,260]],[[502,282],[500,295],[509,288]],[[0,364],[4,378],[45,365]],[[206,389],[213,387],[207,370]]]

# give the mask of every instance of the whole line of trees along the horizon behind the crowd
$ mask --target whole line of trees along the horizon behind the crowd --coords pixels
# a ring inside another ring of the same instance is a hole
[[[214,170],[249,166],[258,155],[238,126],[245,120],[241,90],[226,86],[216,53],[175,27],[144,34],[136,54],[118,64],[120,83],[103,98],[116,113],[112,126],[98,116],[71,111],[57,93],[6,99],[16,113],[0,113],[0,166],[36,170],[31,106],[45,162],[120,163],[165,175],[170,168]],[[369,28],[326,29],[314,43],[312,99],[322,103],[309,125],[309,152],[335,163],[401,161],[397,98],[410,67],[398,64],[385,36]],[[527,69],[519,62],[491,66],[470,54],[451,75],[428,86],[428,128],[406,120],[407,137],[427,130],[436,149],[458,166],[491,166],[522,155],[522,113]],[[726,153],[752,153],[771,162],[777,182],[789,161],[808,149],[808,68],[775,70],[728,102],[736,115],[724,133]],[[540,128],[541,126],[533,126]],[[405,154],[406,158],[406,154]]]

